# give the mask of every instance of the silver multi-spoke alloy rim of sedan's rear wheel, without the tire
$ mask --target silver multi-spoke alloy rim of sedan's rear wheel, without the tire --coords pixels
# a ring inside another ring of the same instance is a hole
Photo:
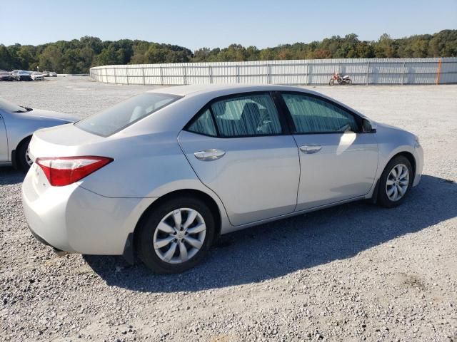
[[[154,251],[169,264],[181,264],[203,247],[206,224],[195,209],[175,209],[165,215],[154,232]]]

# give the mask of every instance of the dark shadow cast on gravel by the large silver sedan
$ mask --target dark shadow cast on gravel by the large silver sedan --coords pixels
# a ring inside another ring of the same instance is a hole
[[[84,256],[106,284],[134,291],[200,291],[273,279],[354,257],[457,216],[457,184],[423,175],[400,207],[353,202],[224,235],[203,264],[156,275],[122,257]]]

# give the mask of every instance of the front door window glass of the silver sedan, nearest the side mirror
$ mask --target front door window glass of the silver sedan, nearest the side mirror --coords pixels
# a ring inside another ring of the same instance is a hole
[[[282,94],[297,133],[357,132],[353,115],[324,100],[307,95]]]

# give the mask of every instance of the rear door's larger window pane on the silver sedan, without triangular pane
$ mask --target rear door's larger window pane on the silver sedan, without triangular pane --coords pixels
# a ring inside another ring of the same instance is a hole
[[[236,96],[211,105],[222,137],[281,134],[278,112],[268,94]]]

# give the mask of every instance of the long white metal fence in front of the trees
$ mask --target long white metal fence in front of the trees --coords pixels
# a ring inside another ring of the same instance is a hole
[[[218,83],[328,84],[332,73],[353,84],[457,83],[457,58],[315,59],[214,63],[129,64],[91,68],[94,80],[139,85]]]

